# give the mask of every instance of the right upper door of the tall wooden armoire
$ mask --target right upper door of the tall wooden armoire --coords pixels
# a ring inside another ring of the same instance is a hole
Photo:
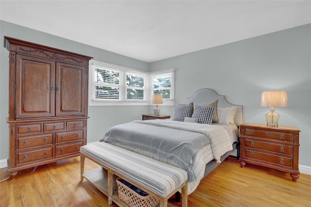
[[[56,116],[85,115],[85,67],[56,63]]]

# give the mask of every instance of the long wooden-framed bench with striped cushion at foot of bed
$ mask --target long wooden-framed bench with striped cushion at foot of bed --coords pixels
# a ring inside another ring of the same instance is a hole
[[[108,197],[109,205],[115,202],[119,206],[126,206],[113,192],[116,191],[114,186],[116,186],[117,176],[142,191],[159,196],[160,207],[167,207],[168,199],[176,191],[182,189],[182,207],[187,207],[188,175],[186,171],[105,142],[88,143],[80,148],[80,153],[81,181],[85,177],[104,192]],[[106,171],[97,169],[89,174],[84,173],[85,158],[99,164]],[[102,174],[102,178],[99,178],[97,174]],[[107,190],[104,190],[105,188]]]

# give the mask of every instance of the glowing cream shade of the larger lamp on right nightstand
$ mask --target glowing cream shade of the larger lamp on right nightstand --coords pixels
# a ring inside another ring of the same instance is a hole
[[[260,106],[287,107],[286,91],[265,91],[261,94]]]

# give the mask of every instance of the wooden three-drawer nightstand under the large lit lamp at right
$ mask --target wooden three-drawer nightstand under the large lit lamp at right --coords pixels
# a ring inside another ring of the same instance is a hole
[[[264,124],[240,125],[241,157],[246,163],[261,165],[290,173],[294,182],[299,178],[299,128],[267,127]]]

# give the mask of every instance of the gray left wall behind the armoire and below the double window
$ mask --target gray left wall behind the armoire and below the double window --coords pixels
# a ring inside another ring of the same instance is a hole
[[[93,60],[105,63],[148,71],[148,63],[0,20],[0,160],[7,159],[9,155],[9,129],[6,123],[9,109],[9,51],[3,48],[3,36],[91,56]],[[151,112],[148,110],[148,106],[88,107],[90,118],[87,123],[87,142],[98,141],[114,125],[141,119],[142,113]]]

